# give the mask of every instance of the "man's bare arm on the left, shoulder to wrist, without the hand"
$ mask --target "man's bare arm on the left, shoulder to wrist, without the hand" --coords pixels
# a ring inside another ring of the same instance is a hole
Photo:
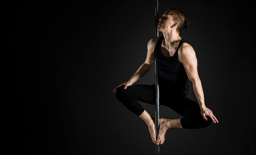
[[[154,62],[155,62],[154,49],[155,49],[157,40],[158,40],[158,38],[152,38],[148,41],[148,46],[147,46],[148,51],[147,51],[146,60],[143,64],[141,64],[139,69],[130,78],[129,82],[131,82],[132,84],[134,84],[136,81],[138,81],[144,75],[146,75],[146,73],[148,73],[148,71],[154,64]]]

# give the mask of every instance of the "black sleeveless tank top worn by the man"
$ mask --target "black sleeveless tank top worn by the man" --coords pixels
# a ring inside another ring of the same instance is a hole
[[[159,87],[168,86],[175,92],[188,94],[190,80],[183,64],[178,60],[178,49],[184,41],[183,39],[180,41],[172,57],[166,57],[160,51],[163,39],[164,36],[161,35],[154,49]]]

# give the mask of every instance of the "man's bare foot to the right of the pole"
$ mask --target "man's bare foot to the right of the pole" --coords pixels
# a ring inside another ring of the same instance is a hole
[[[164,143],[164,140],[165,140],[164,135],[167,129],[170,128],[170,121],[171,119],[165,119],[165,118],[160,119],[159,133],[157,135],[157,142],[156,142],[157,145]]]

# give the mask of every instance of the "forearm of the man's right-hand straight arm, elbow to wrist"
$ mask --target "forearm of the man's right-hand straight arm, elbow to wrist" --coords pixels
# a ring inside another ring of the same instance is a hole
[[[201,109],[204,109],[206,106],[204,104],[204,92],[203,92],[203,89],[202,89],[201,80],[200,79],[193,80],[192,83],[193,83],[193,89],[194,89],[194,92],[195,92],[195,96],[198,99],[198,104],[199,104]]]

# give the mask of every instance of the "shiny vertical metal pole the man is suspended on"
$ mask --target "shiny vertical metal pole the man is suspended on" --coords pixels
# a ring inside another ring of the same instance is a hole
[[[159,19],[158,11],[158,0],[155,0],[155,37],[158,37],[157,24]],[[156,90],[156,103],[155,103],[155,131],[158,135],[160,121],[159,121],[159,87],[158,87],[158,76],[157,76],[157,62],[155,60],[155,90]],[[160,155],[160,145],[155,144],[156,155]]]

